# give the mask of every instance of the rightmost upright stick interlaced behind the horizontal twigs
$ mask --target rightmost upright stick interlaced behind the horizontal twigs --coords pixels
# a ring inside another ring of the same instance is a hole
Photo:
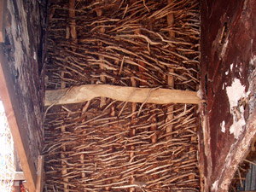
[[[167,0],[167,1],[168,1],[169,4],[172,3],[172,0]],[[167,15],[167,25],[168,26],[172,26],[173,23],[174,23],[174,15],[173,14],[168,14]],[[175,38],[175,33],[172,30],[169,31],[169,37],[170,38]],[[169,73],[173,73],[174,72],[173,69],[168,69],[168,71],[169,71]],[[167,77],[167,84],[169,85],[170,88],[174,89],[174,79],[173,79],[172,75],[169,75]],[[166,122],[171,121],[173,119],[173,113],[172,113],[173,112],[173,105],[171,105],[167,109],[167,112],[170,113],[170,114],[167,115]],[[167,134],[172,133],[172,129],[173,129],[173,124],[168,125],[166,127],[166,133]],[[166,137],[166,139],[170,139],[171,137],[172,136],[168,136],[168,137]]]

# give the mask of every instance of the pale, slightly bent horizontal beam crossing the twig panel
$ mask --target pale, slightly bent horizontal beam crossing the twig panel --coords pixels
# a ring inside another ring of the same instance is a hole
[[[44,105],[86,102],[96,97],[108,97],[122,102],[147,102],[155,104],[198,104],[200,102],[195,91],[137,88],[109,84],[85,84],[71,89],[46,90]]]

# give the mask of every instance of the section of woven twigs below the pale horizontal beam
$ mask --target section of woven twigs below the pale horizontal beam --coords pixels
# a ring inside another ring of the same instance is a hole
[[[48,113],[47,191],[63,191],[64,177],[70,191],[199,191],[198,143],[191,141],[198,126],[194,105],[175,105],[174,118],[166,121],[167,106],[137,106],[131,113],[131,103],[108,100],[108,106],[99,110],[100,102],[99,98],[74,110],[59,107],[63,112],[56,113],[55,108]],[[173,131],[166,133],[170,124]]]

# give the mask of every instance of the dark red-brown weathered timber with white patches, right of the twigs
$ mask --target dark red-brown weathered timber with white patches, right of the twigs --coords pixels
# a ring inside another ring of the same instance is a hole
[[[203,98],[207,98],[201,112],[204,191],[230,191],[231,179],[256,132],[255,9],[253,0],[201,1],[201,88]],[[237,107],[230,104],[228,90],[234,89],[234,82],[245,93],[250,92],[248,96],[239,94],[241,100],[235,101],[246,125],[237,125],[232,111]],[[244,105],[243,100],[247,101]]]

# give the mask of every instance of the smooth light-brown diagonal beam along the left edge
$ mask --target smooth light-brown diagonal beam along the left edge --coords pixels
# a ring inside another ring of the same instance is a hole
[[[23,114],[20,113],[18,96],[15,94],[15,84],[11,79],[8,62],[3,55],[3,48],[0,44],[0,97],[3,101],[9,128],[12,133],[15,149],[17,151],[20,165],[26,177],[27,186],[30,192],[36,190],[36,169],[29,150],[26,136],[26,122]]]

